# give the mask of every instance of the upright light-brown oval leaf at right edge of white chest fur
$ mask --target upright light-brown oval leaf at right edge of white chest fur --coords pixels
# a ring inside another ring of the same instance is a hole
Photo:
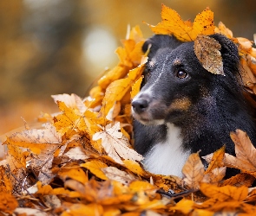
[[[198,189],[200,187],[200,181],[203,179],[204,172],[205,168],[200,160],[199,153],[191,154],[182,168],[182,173],[185,175],[183,181],[188,187]]]

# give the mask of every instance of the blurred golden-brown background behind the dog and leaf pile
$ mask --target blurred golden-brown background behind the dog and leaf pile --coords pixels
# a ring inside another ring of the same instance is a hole
[[[52,94],[87,96],[118,62],[128,24],[152,35],[142,22],[161,22],[161,3],[192,21],[208,6],[234,36],[256,33],[255,0],[0,1],[0,135],[58,111]]]

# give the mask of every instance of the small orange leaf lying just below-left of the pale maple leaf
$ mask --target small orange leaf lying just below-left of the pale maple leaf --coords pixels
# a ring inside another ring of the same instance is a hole
[[[87,168],[89,171],[102,180],[108,180],[108,177],[102,171],[102,168],[108,168],[108,165],[98,160],[92,160],[80,165],[82,168]]]

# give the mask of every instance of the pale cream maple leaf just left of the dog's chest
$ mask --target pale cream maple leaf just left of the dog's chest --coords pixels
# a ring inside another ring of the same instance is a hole
[[[103,148],[108,156],[111,156],[115,162],[123,164],[120,157],[140,162],[143,157],[135,152],[134,149],[128,147],[128,138],[120,132],[120,123],[117,122],[110,128],[109,126],[110,124],[107,125],[106,130],[95,133],[93,140],[102,139]]]

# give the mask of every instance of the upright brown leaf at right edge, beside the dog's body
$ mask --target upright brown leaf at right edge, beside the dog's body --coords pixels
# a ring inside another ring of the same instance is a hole
[[[254,168],[256,168],[256,149],[250,138],[246,135],[246,132],[236,130],[235,133],[230,133],[230,137],[235,144],[236,157],[240,160],[251,162]]]

